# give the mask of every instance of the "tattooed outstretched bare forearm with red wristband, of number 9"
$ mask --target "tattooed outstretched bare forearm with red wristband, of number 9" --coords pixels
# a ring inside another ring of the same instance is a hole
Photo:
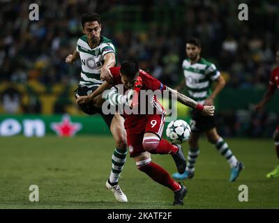
[[[192,98],[188,98],[186,95],[183,95],[182,93],[179,93],[178,91],[175,91],[169,87],[167,87],[167,91],[169,93],[174,94],[177,96],[177,100],[181,102],[183,105],[186,105],[188,107],[192,107],[193,109],[197,109],[199,112],[202,112],[202,114],[207,116],[213,116],[214,114],[214,107],[213,106],[203,106],[193,100]]]

